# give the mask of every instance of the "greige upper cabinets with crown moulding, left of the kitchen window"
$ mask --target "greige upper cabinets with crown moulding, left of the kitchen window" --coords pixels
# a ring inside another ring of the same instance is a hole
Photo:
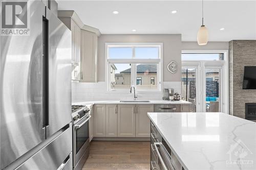
[[[86,26],[74,11],[58,11],[72,32],[72,80],[97,82],[98,29]]]

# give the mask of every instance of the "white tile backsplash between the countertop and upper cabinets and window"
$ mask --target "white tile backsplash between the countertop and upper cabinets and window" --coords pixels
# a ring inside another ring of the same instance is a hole
[[[173,88],[181,93],[181,82],[163,82],[163,88]],[[162,100],[162,92],[138,93],[139,100]],[[124,92],[108,92],[105,82],[78,83],[72,82],[72,102],[105,101],[105,100],[132,100],[133,94]]]

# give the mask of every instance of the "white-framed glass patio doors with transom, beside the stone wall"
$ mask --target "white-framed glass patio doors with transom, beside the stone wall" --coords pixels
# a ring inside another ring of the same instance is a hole
[[[228,113],[228,51],[183,50],[181,81],[190,111]]]

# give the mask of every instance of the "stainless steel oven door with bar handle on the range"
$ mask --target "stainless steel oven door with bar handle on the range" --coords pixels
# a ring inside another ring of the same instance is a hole
[[[74,167],[77,165],[84,152],[89,147],[89,119],[91,115],[82,118],[74,125],[73,133],[73,153],[74,153]]]

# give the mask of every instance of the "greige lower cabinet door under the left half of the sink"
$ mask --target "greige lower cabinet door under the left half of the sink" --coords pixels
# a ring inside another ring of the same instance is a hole
[[[135,105],[118,105],[117,136],[135,137]]]

